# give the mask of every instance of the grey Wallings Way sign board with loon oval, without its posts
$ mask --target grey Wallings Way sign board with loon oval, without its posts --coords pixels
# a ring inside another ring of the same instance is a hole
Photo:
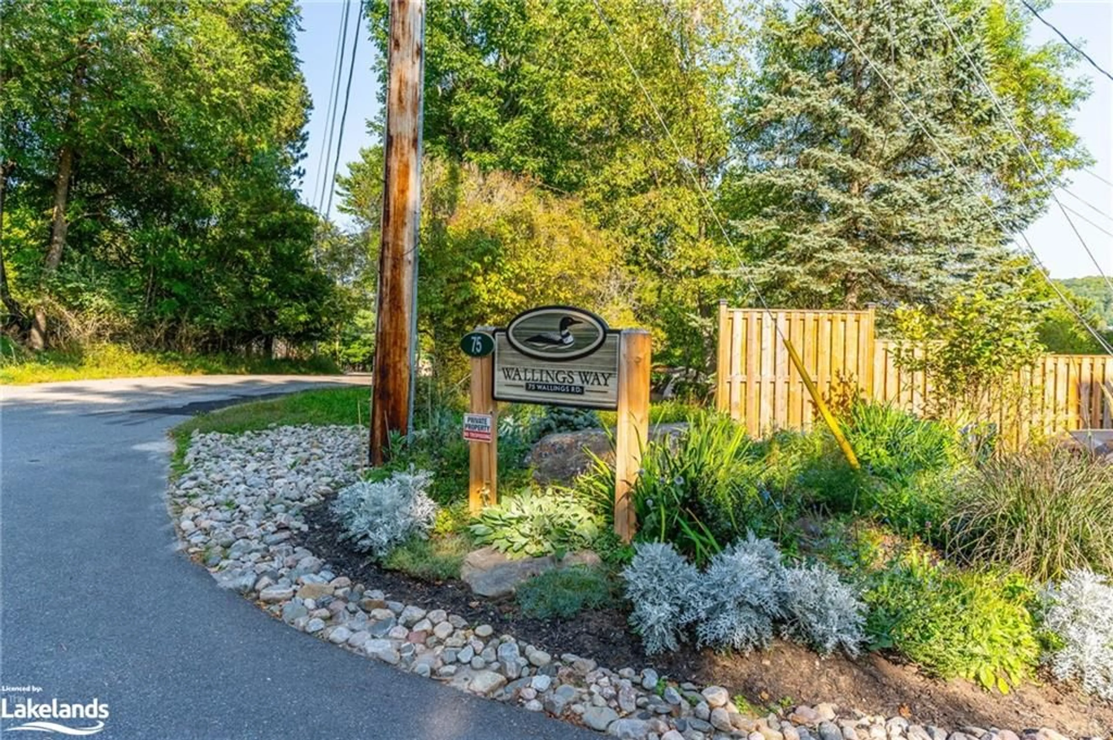
[[[498,401],[618,408],[619,334],[594,314],[534,308],[494,338]]]

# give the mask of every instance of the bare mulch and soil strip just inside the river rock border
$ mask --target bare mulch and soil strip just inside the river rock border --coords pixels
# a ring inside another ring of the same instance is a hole
[[[840,654],[819,659],[789,642],[776,641],[750,655],[722,654],[681,645],[666,655],[647,657],[627,624],[628,611],[603,609],[567,621],[536,620],[521,614],[512,596],[476,596],[462,581],[425,582],[377,566],[343,544],[341,529],[326,504],[304,510],[309,525],[299,544],[354,583],[378,589],[388,599],[425,609],[444,609],[471,624],[491,624],[496,634],[513,634],[554,655],[575,653],[612,670],[652,667],[662,675],[700,685],[726,687],[754,707],[816,704],[828,701],[843,711],[903,716],[912,722],[947,730],[997,727],[1020,731],[1050,727],[1073,736],[1113,738],[1113,704],[1089,698],[1062,684],[1043,681],[1008,694],[983,691],[962,680],[938,681],[879,653],[857,660]]]

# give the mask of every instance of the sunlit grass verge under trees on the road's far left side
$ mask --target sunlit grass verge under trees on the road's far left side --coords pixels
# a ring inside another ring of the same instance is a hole
[[[174,352],[138,352],[120,344],[31,353],[8,339],[0,343],[0,384],[10,385],[109,377],[335,372],[336,366],[321,357],[292,361],[238,355],[185,355]]]

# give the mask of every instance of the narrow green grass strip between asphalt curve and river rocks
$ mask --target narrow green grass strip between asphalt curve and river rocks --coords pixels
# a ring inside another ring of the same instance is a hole
[[[170,431],[175,443],[171,471],[175,475],[183,473],[189,435],[194,432],[242,434],[274,425],[301,424],[366,426],[370,401],[371,389],[365,386],[322,388],[198,414]]]

